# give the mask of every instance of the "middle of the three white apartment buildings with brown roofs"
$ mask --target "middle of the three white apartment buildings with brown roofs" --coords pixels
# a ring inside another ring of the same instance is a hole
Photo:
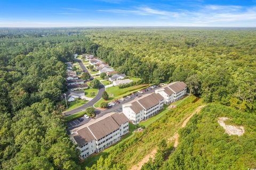
[[[133,124],[137,124],[161,111],[164,107],[164,98],[155,93],[147,94],[123,104],[122,107],[124,115]]]

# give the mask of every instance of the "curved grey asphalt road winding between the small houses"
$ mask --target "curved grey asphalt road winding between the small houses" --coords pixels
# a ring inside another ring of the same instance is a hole
[[[76,59],[75,61],[77,61],[79,63],[79,65],[81,66],[83,72],[89,73],[89,71],[86,69],[86,67],[84,66],[84,64],[82,63],[81,60]],[[91,78],[93,79],[92,75],[91,75]],[[86,107],[93,106],[95,103],[97,103],[97,101],[100,100],[100,98],[102,97],[103,91],[105,91],[105,87],[103,86],[103,84],[100,84],[98,94],[91,101],[89,101],[88,103],[86,103],[86,104],[84,104],[82,106],[79,106],[79,107],[77,107],[77,108],[75,108],[75,109],[73,109],[71,111],[64,112],[65,116],[69,116],[69,115],[75,114],[77,112],[84,111],[84,109]]]

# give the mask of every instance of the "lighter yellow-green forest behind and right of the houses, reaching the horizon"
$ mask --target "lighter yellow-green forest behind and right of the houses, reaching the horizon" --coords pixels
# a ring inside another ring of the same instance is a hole
[[[85,31],[97,56],[143,82],[185,81],[207,102],[256,108],[253,29],[104,29]]]

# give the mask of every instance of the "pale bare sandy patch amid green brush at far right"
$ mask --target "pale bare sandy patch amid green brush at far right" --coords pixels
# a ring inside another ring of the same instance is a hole
[[[225,129],[225,132],[229,135],[238,135],[239,137],[244,134],[244,127],[243,126],[233,126],[233,125],[226,125],[224,121],[229,120],[228,117],[219,117],[218,123],[222,128]]]

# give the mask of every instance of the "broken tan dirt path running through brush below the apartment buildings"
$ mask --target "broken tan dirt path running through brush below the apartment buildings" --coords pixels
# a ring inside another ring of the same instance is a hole
[[[184,128],[186,126],[186,124],[188,123],[188,121],[190,120],[190,118],[192,116],[194,116],[195,114],[199,113],[201,111],[201,109],[204,107],[205,105],[202,106],[198,106],[196,108],[196,110],[186,118],[186,120],[182,123],[181,128]],[[173,149],[171,150],[171,153],[175,150],[175,148],[177,148],[177,146],[179,145],[179,133],[175,132],[174,135],[168,139],[167,142],[171,142],[174,140],[174,145],[173,145]],[[130,170],[140,170],[141,167],[148,162],[149,158],[152,158],[154,160],[155,154],[156,154],[157,148],[154,148],[148,155],[146,155],[138,164],[133,165],[131,167]]]

